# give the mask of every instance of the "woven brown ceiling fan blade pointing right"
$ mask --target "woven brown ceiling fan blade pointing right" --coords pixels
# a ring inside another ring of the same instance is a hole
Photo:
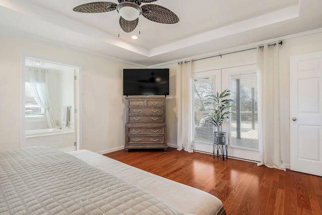
[[[164,24],[175,24],[179,22],[179,17],[169,9],[159,5],[143,5],[142,16],[148,20]]]

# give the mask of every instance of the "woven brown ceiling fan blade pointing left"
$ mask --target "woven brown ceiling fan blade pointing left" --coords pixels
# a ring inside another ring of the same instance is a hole
[[[92,2],[84,5],[78,5],[72,10],[80,13],[103,13],[114,11],[117,4],[112,2]]]

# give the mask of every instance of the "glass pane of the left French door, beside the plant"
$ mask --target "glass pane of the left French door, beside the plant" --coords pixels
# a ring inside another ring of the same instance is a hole
[[[193,140],[212,143],[213,125],[205,122],[205,116],[211,113],[211,105],[204,105],[205,97],[213,94],[213,77],[193,79],[194,125]]]

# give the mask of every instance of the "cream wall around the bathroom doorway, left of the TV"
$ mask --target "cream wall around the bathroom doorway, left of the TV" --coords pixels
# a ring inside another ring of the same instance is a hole
[[[22,55],[81,66],[81,148],[104,153],[124,146],[122,69],[131,66],[6,34],[0,47],[0,151],[20,148]]]

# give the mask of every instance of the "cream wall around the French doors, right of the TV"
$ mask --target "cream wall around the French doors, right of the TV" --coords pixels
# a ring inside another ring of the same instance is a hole
[[[293,55],[299,55],[309,52],[316,52],[322,50],[322,34],[302,37],[292,40],[283,40],[283,45],[279,47],[279,68],[280,80],[284,83],[281,90],[282,101],[284,107],[282,110],[281,139],[283,142],[282,159],[285,164],[290,163],[290,130],[289,130],[289,58]],[[241,64],[250,64],[256,62],[256,49],[246,52],[237,52],[233,54],[223,55],[221,57],[207,58],[192,62],[193,72],[212,70],[216,68],[231,67]],[[176,82],[176,74],[179,72],[179,65],[169,64],[163,67],[170,67],[171,81]],[[171,82],[170,96],[167,99],[167,129],[168,129],[168,143],[176,145],[177,142],[177,104],[176,104],[175,84]]]

